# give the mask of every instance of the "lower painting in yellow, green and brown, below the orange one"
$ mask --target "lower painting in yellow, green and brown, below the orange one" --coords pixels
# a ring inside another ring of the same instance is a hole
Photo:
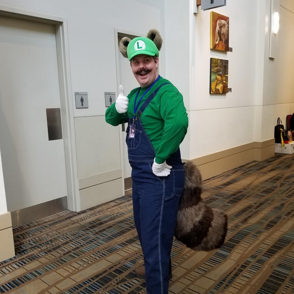
[[[209,94],[228,93],[229,61],[210,58],[210,89]]]

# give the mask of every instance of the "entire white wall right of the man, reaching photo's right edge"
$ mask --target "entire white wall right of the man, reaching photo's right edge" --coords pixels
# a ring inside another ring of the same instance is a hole
[[[270,0],[227,0],[226,6],[216,9],[203,11],[199,7],[198,14],[192,18],[191,159],[272,139],[277,117],[280,116],[285,123],[286,114],[294,112],[294,83],[287,66],[294,62],[291,53],[294,35],[289,36],[294,15],[287,10],[289,6],[293,8],[293,1],[281,1],[281,5],[286,6],[281,7],[276,59],[269,59]],[[229,46],[232,52],[209,49],[210,11],[230,18]],[[228,84],[232,93],[209,94],[211,57],[229,60]]]

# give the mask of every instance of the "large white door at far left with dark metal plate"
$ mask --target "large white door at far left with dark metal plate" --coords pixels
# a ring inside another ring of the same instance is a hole
[[[60,109],[54,25],[0,17],[0,150],[10,212],[66,199],[64,143],[60,133],[49,136],[48,109]],[[42,217],[39,208],[30,214]]]

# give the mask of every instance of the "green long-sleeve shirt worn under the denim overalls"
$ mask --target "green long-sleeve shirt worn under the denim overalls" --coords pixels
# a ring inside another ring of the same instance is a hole
[[[144,101],[159,85],[166,82],[169,81],[160,77],[144,96],[138,109],[140,109]],[[105,113],[107,123],[119,125],[126,123],[128,118],[134,116],[134,102],[137,91],[138,88],[132,90],[127,96],[129,104],[126,113],[118,113],[115,108],[115,103],[107,108]],[[146,88],[140,89],[137,102],[145,91]],[[178,149],[187,133],[188,115],[182,94],[170,82],[162,86],[143,112],[141,121],[155,149],[155,161],[161,164]]]

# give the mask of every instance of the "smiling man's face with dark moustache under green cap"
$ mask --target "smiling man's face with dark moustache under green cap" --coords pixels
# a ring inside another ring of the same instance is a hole
[[[132,72],[142,88],[150,86],[158,77],[158,58],[139,54],[131,60]]]

